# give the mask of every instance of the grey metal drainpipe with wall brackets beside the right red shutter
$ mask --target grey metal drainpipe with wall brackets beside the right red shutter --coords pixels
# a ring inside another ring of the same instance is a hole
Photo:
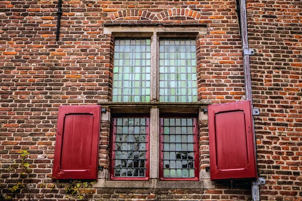
[[[248,27],[247,27],[247,10],[246,0],[240,0],[240,19],[241,19],[241,40],[242,40],[242,52],[243,52],[243,68],[244,68],[244,79],[246,89],[246,99],[251,100],[253,115],[259,115],[259,110],[253,109],[253,97],[252,97],[252,81],[251,81],[251,68],[250,68],[250,55],[254,54],[253,49],[249,49],[248,42]],[[252,118],[253,127],[255,131],[254,118]],[[255,142],[255,136],[254,136]],[[255,143],[256,150],[256,143]],[[252,198],[253,201],[260,200],[259,185],[265,184],[264,178],[257,178],[252,181]]]

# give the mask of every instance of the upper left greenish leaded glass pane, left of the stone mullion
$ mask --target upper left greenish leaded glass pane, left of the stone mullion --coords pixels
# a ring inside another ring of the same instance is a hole
[[[150,101],[150,39],[116,39],[112,102]]]

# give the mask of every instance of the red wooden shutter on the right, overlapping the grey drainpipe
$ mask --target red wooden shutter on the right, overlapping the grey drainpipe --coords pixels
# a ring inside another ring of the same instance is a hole
[[[249,100],[208,106],[211,179],[257,178]]]

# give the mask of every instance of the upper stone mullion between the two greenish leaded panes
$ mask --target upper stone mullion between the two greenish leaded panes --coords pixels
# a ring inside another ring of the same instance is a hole
[[[159,37],[156,33],[151,38],[151,77],[150,77],[150,101],[159,100]]]

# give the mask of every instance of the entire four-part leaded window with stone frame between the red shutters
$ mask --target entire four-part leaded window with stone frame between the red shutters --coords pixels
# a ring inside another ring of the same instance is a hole
[[[104,29],[114,36],[110,178],[198,180],[196,36],[206,28],[122,29]]]

